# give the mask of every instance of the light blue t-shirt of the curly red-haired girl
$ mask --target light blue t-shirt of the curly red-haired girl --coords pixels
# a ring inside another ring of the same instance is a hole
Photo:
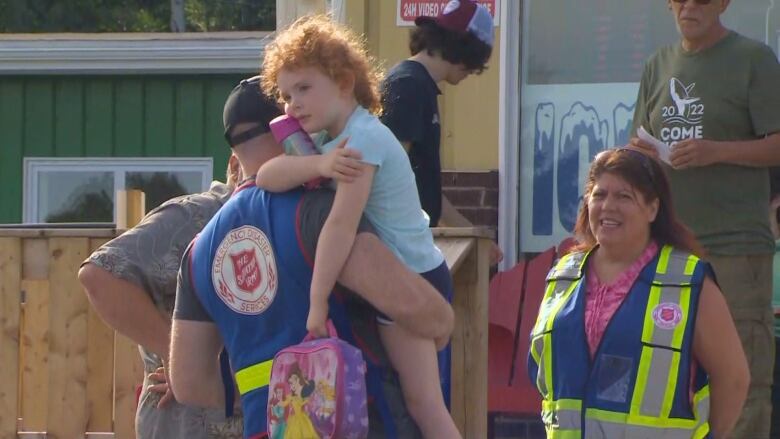
[[[389,128],[358,105],[335,139],[323,144],[327,136],[312,137],[323,154],[348,137],[347,147],[360,151],[364,163],[376,166],[364,214],[379,238],[410,270],[425,273],[444,262],[420,205],[409,157]]]

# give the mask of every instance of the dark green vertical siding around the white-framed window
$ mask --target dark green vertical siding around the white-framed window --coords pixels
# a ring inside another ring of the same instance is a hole
[[[212,157],[244,75],[0,77],[0,223],[22,220],[24,157]]]

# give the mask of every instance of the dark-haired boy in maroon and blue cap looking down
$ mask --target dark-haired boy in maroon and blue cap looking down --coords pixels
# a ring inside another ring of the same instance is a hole
[[[471,0],[452,0],[437,17],[417,17],[409,36],[412,56],[395,65],[382,84],[382,122],[409,152],[417,191],[431,227],[470,227],[441,192],[438,83],[457,85],[487,68],[493,17]],[[498,246],[491,262],[503,259]]]

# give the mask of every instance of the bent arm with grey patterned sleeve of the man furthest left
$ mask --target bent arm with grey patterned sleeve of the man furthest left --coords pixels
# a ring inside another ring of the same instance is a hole
[[[211,198],[197,206],[166,203],[92,253],[78,276],[98,315],[134,342],[167,358],[171,321],[162,310],[173,304],[180,249],[196,233],[194,212],[210,216],[217,208]]]

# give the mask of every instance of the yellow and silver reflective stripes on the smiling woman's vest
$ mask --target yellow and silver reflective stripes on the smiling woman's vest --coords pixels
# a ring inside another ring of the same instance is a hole
[[[548,276],[532,332],[530,354],[538,366],[536,385],[543,397],[542,418],[548,439],[705,437],[709,433],[708,385],[694,395],[694,419],[670,417],[681,349],[691,320],[692,277],[699,261],[671,246],[661,249],[650,286],[642,327],[643,346],[628,413],[583,407],[579,399],[553,399],[553,324],[580,284],[586,258],[582,253],[570,254],[556,264]],[[663,323],[664,318],[668,325],[657,324],[659,319]]]

